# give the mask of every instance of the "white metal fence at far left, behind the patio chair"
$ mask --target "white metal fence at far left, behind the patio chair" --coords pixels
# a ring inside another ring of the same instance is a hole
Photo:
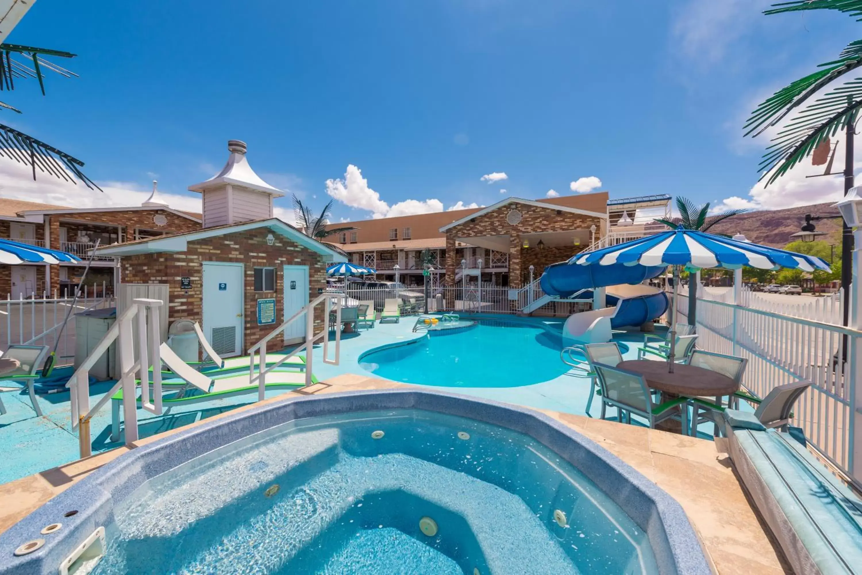
[[[7,299],[0,300],[0,351],[5,351],[12,344],[53,348],[56,343],[58,365],[63,365],[61,359],[71,359],[75,354],[75,315],[115,305],[114,297],[108,291],[109,286],[105,284],[96,289],[84,285],[77,302],[73,301],[72,295],[58,297],[56,291],[53,297],[43,292],[41,297],[31,294],[30,297],[13,299],[9,294]],[[72,305],[74,309],[69,325],[60,333],[59,326]]]

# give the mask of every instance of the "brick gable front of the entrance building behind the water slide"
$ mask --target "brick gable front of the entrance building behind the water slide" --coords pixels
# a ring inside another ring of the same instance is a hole
[[[515,225],[506,221],[506,216],[509,210],[517,209],[522,214],[521,222]],[[528,255],[533,248],[522,248],[521,234],[534,234],[537,232],[562,232],[572,229],[590,229],[590,225],[596,224],[599,227],[602,223],[602,218],[593,216],[583,216],[581,214],[572,214],[562,210],[531,206],[526,203],[509,203],[497,209],[493,209],[484,216],[478,216],[473,221],[468,221],[449,228],[446,231],[447,240],[447,257],[446,257],[446,282],[453,284],[455,279],[455,257],[454,247],[455,239],[463,239],[469,242],[471,237],[483,235],[509,235],[509,286],[512,288],[522,287],[522,280],[525,277],[524,272],[529,275],[528,267],[530,262],[526,258],[533,257]],[[547,250],[552,248],[548,247]],[[553,248],[556,249],[556,248]],[[553,257],[562,256],[556,261],[561,261],[568,257],[572,257],[578,248],[563,248],[558,252],[553,253]],[[452,255],[450,255],[452,253]],[[549,257],[551,253],[549,253]],[[568,255],[565,255],[568,253]],[[542,256],[544,257],[544,256]],[[544,261],[544,259],[542,259]],[[542,269],[549,263],[542,264]],[[536,266],[536,264],[533,264]],[[538,274],[540,275],[540,274]],[[534,274],[534,277],[538,277]]]

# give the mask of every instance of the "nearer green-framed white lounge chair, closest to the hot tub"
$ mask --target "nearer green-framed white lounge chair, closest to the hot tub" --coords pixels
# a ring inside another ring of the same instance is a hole
[[[162,391],[170,392],[172,395],[162,399],[163,408],[171,406],[189,405],[191,403],[202,403],[215,399],[241,396],[257,393],[258,384],[251,384],[250,372],[198,372],[194,366],[180,359],[166,343],[159,347],[159,355],[171,373],[178,377],[162,380]],[[269,358],[269,354],[266,355]],[[269,361],[267,361],[269,364]],[[284,365],[284,364],[283,364]],[[139,385],[140,381],[137,382]],[[315,375],[311,374],[311,383],[318,383]],[[305,385],[305,372],[297,371],[295,366],[279,366],[272,372],[266,374],[266,389],[296,388]],[[192,395],[186,392],[190,387],[195,388]],[[140,405],[141,398],[135,397]],[[120,441],[120,423],[122,416],[122,389],[111,396],[111,441]]]

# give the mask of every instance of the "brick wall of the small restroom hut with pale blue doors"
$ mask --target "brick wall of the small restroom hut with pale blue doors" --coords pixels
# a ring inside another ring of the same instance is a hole
[[[184,253],[147,253],[121,259],[122,282],[126,284],[168,284],[168,322],[180,319],[203,324],[203,262],[222,261],[244,264],[245,333],[242,353],[260,341],[284,321],[284,266],[309,266],[309,301],[326,289],[325,257],[275,235],[272,246],[266,244],[269,228],[225,234],[200,241],[190,241]],[[275,291],[254,291],[255,267],[275,267]],[[192,289],[180,290],[180,278],[191,278]],[[257,300],[276,299],[276,323],[259,326]],[[315,309],[315,333],[323,327],[323,306]],[[269,351],[272,351],[270,349]]]

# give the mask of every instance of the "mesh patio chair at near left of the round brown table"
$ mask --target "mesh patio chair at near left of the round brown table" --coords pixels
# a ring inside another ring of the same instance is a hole
[[[595,364],[593,368],[602,388],[602,411],[606,405],[611,405],[616,408],[617,421],[622,422],[622,416],[625,414],[626,422],[630,424],[634,414],[646,419],[650,428],[679,416],[683,433],[688,434],[689,410],[685,397],[656,404],[653,402],[653,394],[647,386],[647,380],[640,373],[601,363]]]

